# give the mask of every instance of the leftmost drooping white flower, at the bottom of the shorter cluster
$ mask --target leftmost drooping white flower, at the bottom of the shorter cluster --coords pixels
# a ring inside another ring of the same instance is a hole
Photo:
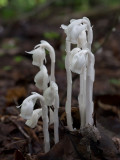
[[[21,113],[20,116],[24,119],[30,119],[33,114],[34,105],[37,101],[37,99],[40,98],[40,95],[37,93],[34,93],[33,95],[27,97],[23,103],[20,106],[17,106],[17,108],[21,107]]]

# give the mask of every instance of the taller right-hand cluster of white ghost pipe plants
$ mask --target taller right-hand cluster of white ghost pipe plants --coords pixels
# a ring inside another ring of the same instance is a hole
[[[61,25],[66,37],[66,59],[65,67],[67,72],[67,100],[66,115],[69,130],[73,130],[71,116],[71,94],[72,94],[72,73],[80,75],[80,93],[78,95],[79,111],[81,117],[80,127],[93,125],[93,82],[94,82],[94,55],[91,52],[93,31],[88,18],[72,19],[68,26]],[[71,44],[76,45],[71,50]]]

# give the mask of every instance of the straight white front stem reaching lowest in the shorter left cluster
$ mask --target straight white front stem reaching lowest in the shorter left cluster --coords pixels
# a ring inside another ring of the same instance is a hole
[[[42,119],[43,119],[43,134],[44,134],[44,149],[45,153],[50,150],[50,138],[48,131],[48,108],[46,105],[42,105]]]

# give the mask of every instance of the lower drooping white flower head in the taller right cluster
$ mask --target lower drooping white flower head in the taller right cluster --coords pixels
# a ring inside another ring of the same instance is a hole
[[[70,54],[70,70],[74,73],[81,74],[86,65],[86,52],[80,48],[74,48]]]

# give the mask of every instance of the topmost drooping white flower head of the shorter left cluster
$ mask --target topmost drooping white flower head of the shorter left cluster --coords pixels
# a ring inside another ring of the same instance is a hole
[[[45,49],[40,46],[38,48],[35,48],[34,50],[32,50],[30,52],[26,52],[26,53],[33,54],[32,64],[35,66],[40,67],[43,65],[44,60],[46,61]]]

